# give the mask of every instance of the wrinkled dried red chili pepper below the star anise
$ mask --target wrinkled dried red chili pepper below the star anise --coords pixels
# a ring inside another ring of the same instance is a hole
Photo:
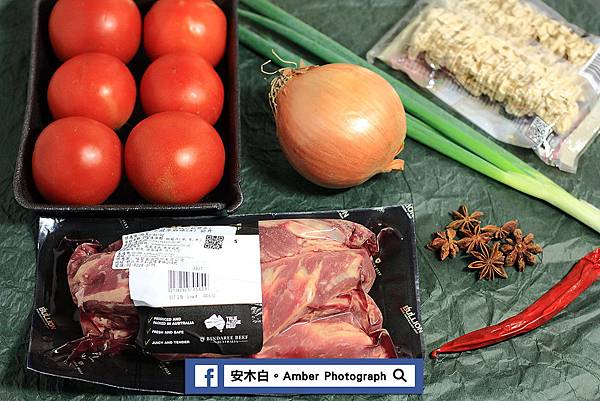
[[[527,333],[552,319],[600,278],[600,248],[587,254],[548,292],[523,312],[493,326],[472,331],[436,349],[438,354],[471,351]]]

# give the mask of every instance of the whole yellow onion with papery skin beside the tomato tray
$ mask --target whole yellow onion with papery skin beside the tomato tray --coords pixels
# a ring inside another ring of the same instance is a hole
[[[402,170],[406,116],[392,86],[353,64],[285,69],[271,87],[277,136],[292,166],[327,188]]]

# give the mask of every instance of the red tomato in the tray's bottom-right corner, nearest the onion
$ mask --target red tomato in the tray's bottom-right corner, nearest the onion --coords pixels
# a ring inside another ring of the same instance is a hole
[[[201,117],[167,111],[140,122],[125,144],[125,171],[150,202],[195,203],[221,181],[225,149]]]

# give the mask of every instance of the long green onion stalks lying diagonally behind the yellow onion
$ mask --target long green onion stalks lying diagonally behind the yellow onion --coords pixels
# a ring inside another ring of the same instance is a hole
[[[242,0],[242,2],[250,3],[247,0]],[[269,2],[263,0],[252,0],[252,4],[256,5],[254,2],[256,2],[256,4],[266,3],[271,5]],[[285,13],[285,11],[283,12]],[[258,23],[259,25],[265,28],[274,26],[271,20],[261,17],[257,14],[245,10],[239,10],[239,13],[240,16],[244,18],[249,18],[250,20]],[[269,23],[266,24],[266,22]],[[304,47],[308,51],[311,51],[311,48],[314,49],[314,46],[316,45],[316,42],[314,40],[308,39],[307,37],[304,37],[302,35],[298,35],[297,33],[297,40],[292,40],[290,37],[282,33],[284,31],[283,29],[281,29],[282,27],[286,28],[281,24],[277,24],[277,26],[275,26],[275,28],[277,29],[274,30],[277,33],[280,33],[282,36],[290,39],[292,42],[300,45],[301,47]],[[273,62],[279,64],[281,67],[289,67],[288,61],[293,62],[296,65],[300,65],[301,61],[304,62],[305,65],[309,64],[306,61],[302,60],[300,56],[291,52],[285,46],[278,44],[270,38],[261,36],[245,26],[240,26],[239,32],[241,43],[243,43],[244,45],[246,45],[247,47],[254,50],[255,52],[257,52],[265,58],[273,58],[273,53],[275,53],[277,57],[274,58]],[[287,33],[289,34],[290,32]],[[319,33],[319,35],[322,34]],[[322,41],[322,43],[327,44],[327,41]],[[357,64],[353,62],[353,60],[351,60],[350,57],[348,57],[347,53],[340,54],[338,51],[335,50],[337,49],[335,47],[320,47],[321,48],[319,48],[319,52],[314,52],[314,54],[328,63],[339,62]],[[350,50],[347,49],[346,51],[350,52]],[[360,57],[356,55],[354,55],[354,57],[360,59]],[[366,61],[364,61],[364,63],[366,63],[366,66],[371,66],[371,64],[367,63]],[[373,68],[375,68],[376,72],[381,71],[376,67]],[[373,70],[373,68],[371,69]],[[386,74],[383,71],[381,72],[383,74]],[[405,101],[405,96],[403,96],[403,88],[409,87],[407,87],[405,84],[401,83],[397,79],[391,77],[389,74],[386,75],[386,79],[392,84],[392,86],[395,88],[398,94],[402,97],[405,107],[408,110]],[[409,89],[413,91],[411,88]],[[413,93],[413,97],[417,99],[418,96],[421,96],[414,91]],[[441,110],[437,105],[433,103],[431,103],[429,109],[435,110],[436,112],[437,110]],[[430,111],[429,114],[435,113],[431,113]],[[488,138],[483,137],[471,127],[460,122],[459,120],[456,120],[459,121],[461,126],[464,126],[468,130],[470,130],[467,131],[469,132],[469,134],[463,135],[459,130],[456,129],[456,125],[454,125],[455,129],[453,130],[453,134],[448,135],[448,137],[456,142],[442,135],[440,131],[444,130],[445,128],[448,128],[446,125],[453,124],[450,118],[455,119],[450,114],[447,115],[449,117],[446,118],[446,124],[442,124],[440,125],[440,128],[435,129],[433,127],[433,124],[431,124],[430,126],[425,122],[421,121],[419,118],[411,114],[407,114],[407,135],[410,138],[416,140],[417,142],[420,142],[436,150],[437,152],[453,160],[456,160],[457,162],[462,163],[481,174],[486,175],[489,178],[492,178],[498,182],[501,182],[530,196],[547,201],[548,203],[558,207],[559,209],[573,216],[582,223],[588,225],[596,232],[600,233],[600,210],[583,200],[575,198],[569,192],[561,188],[558,184],[554,183],[552,180],[539,173],[537,170],[523,162],[521,159],[514,156],[512,153],[506,151],[502,147],[490,141]],[[487,150],[485,155],[483,154],[484,152],[482,150]]]

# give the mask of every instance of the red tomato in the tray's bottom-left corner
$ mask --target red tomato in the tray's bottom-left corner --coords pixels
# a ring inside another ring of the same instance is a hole
[[[35,186],[52,203],[102,203],[121,180],[122,148],[113,130],[90,118],[54,121],[35,142]]]

